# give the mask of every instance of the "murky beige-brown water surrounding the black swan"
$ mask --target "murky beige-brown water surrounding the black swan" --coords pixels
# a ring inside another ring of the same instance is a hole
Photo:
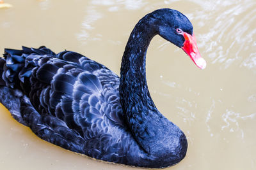
[[[148,86],[157,108],[179,125],[189,148],[168,169],[256,169],[256,1],[14,1],[0,9],[4,47],[45,45],[73,50],[119,73],[138,20],[157,8],[181,11],[194,25],[207,60],[155,37],[147,55]],[[1,106],[0,169],[136,169],[106,164],[39,139]]]

